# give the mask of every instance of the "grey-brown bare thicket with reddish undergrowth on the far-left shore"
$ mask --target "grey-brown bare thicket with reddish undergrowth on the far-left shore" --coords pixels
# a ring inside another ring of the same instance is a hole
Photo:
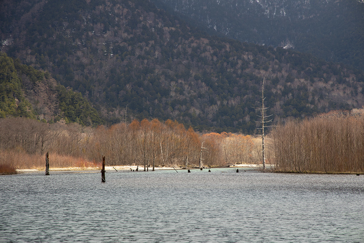
[[[92,129],[78,124],[46,124],[27,118],[0,119],[0,164],[43,168],[49,151],[53,168],[96,167],[88,160]]]

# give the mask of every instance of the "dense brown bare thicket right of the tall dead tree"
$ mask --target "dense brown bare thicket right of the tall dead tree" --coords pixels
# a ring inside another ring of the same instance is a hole
[[[299,173],[364,172],[364,119],[333,112],[275,128],[277,169]]]

